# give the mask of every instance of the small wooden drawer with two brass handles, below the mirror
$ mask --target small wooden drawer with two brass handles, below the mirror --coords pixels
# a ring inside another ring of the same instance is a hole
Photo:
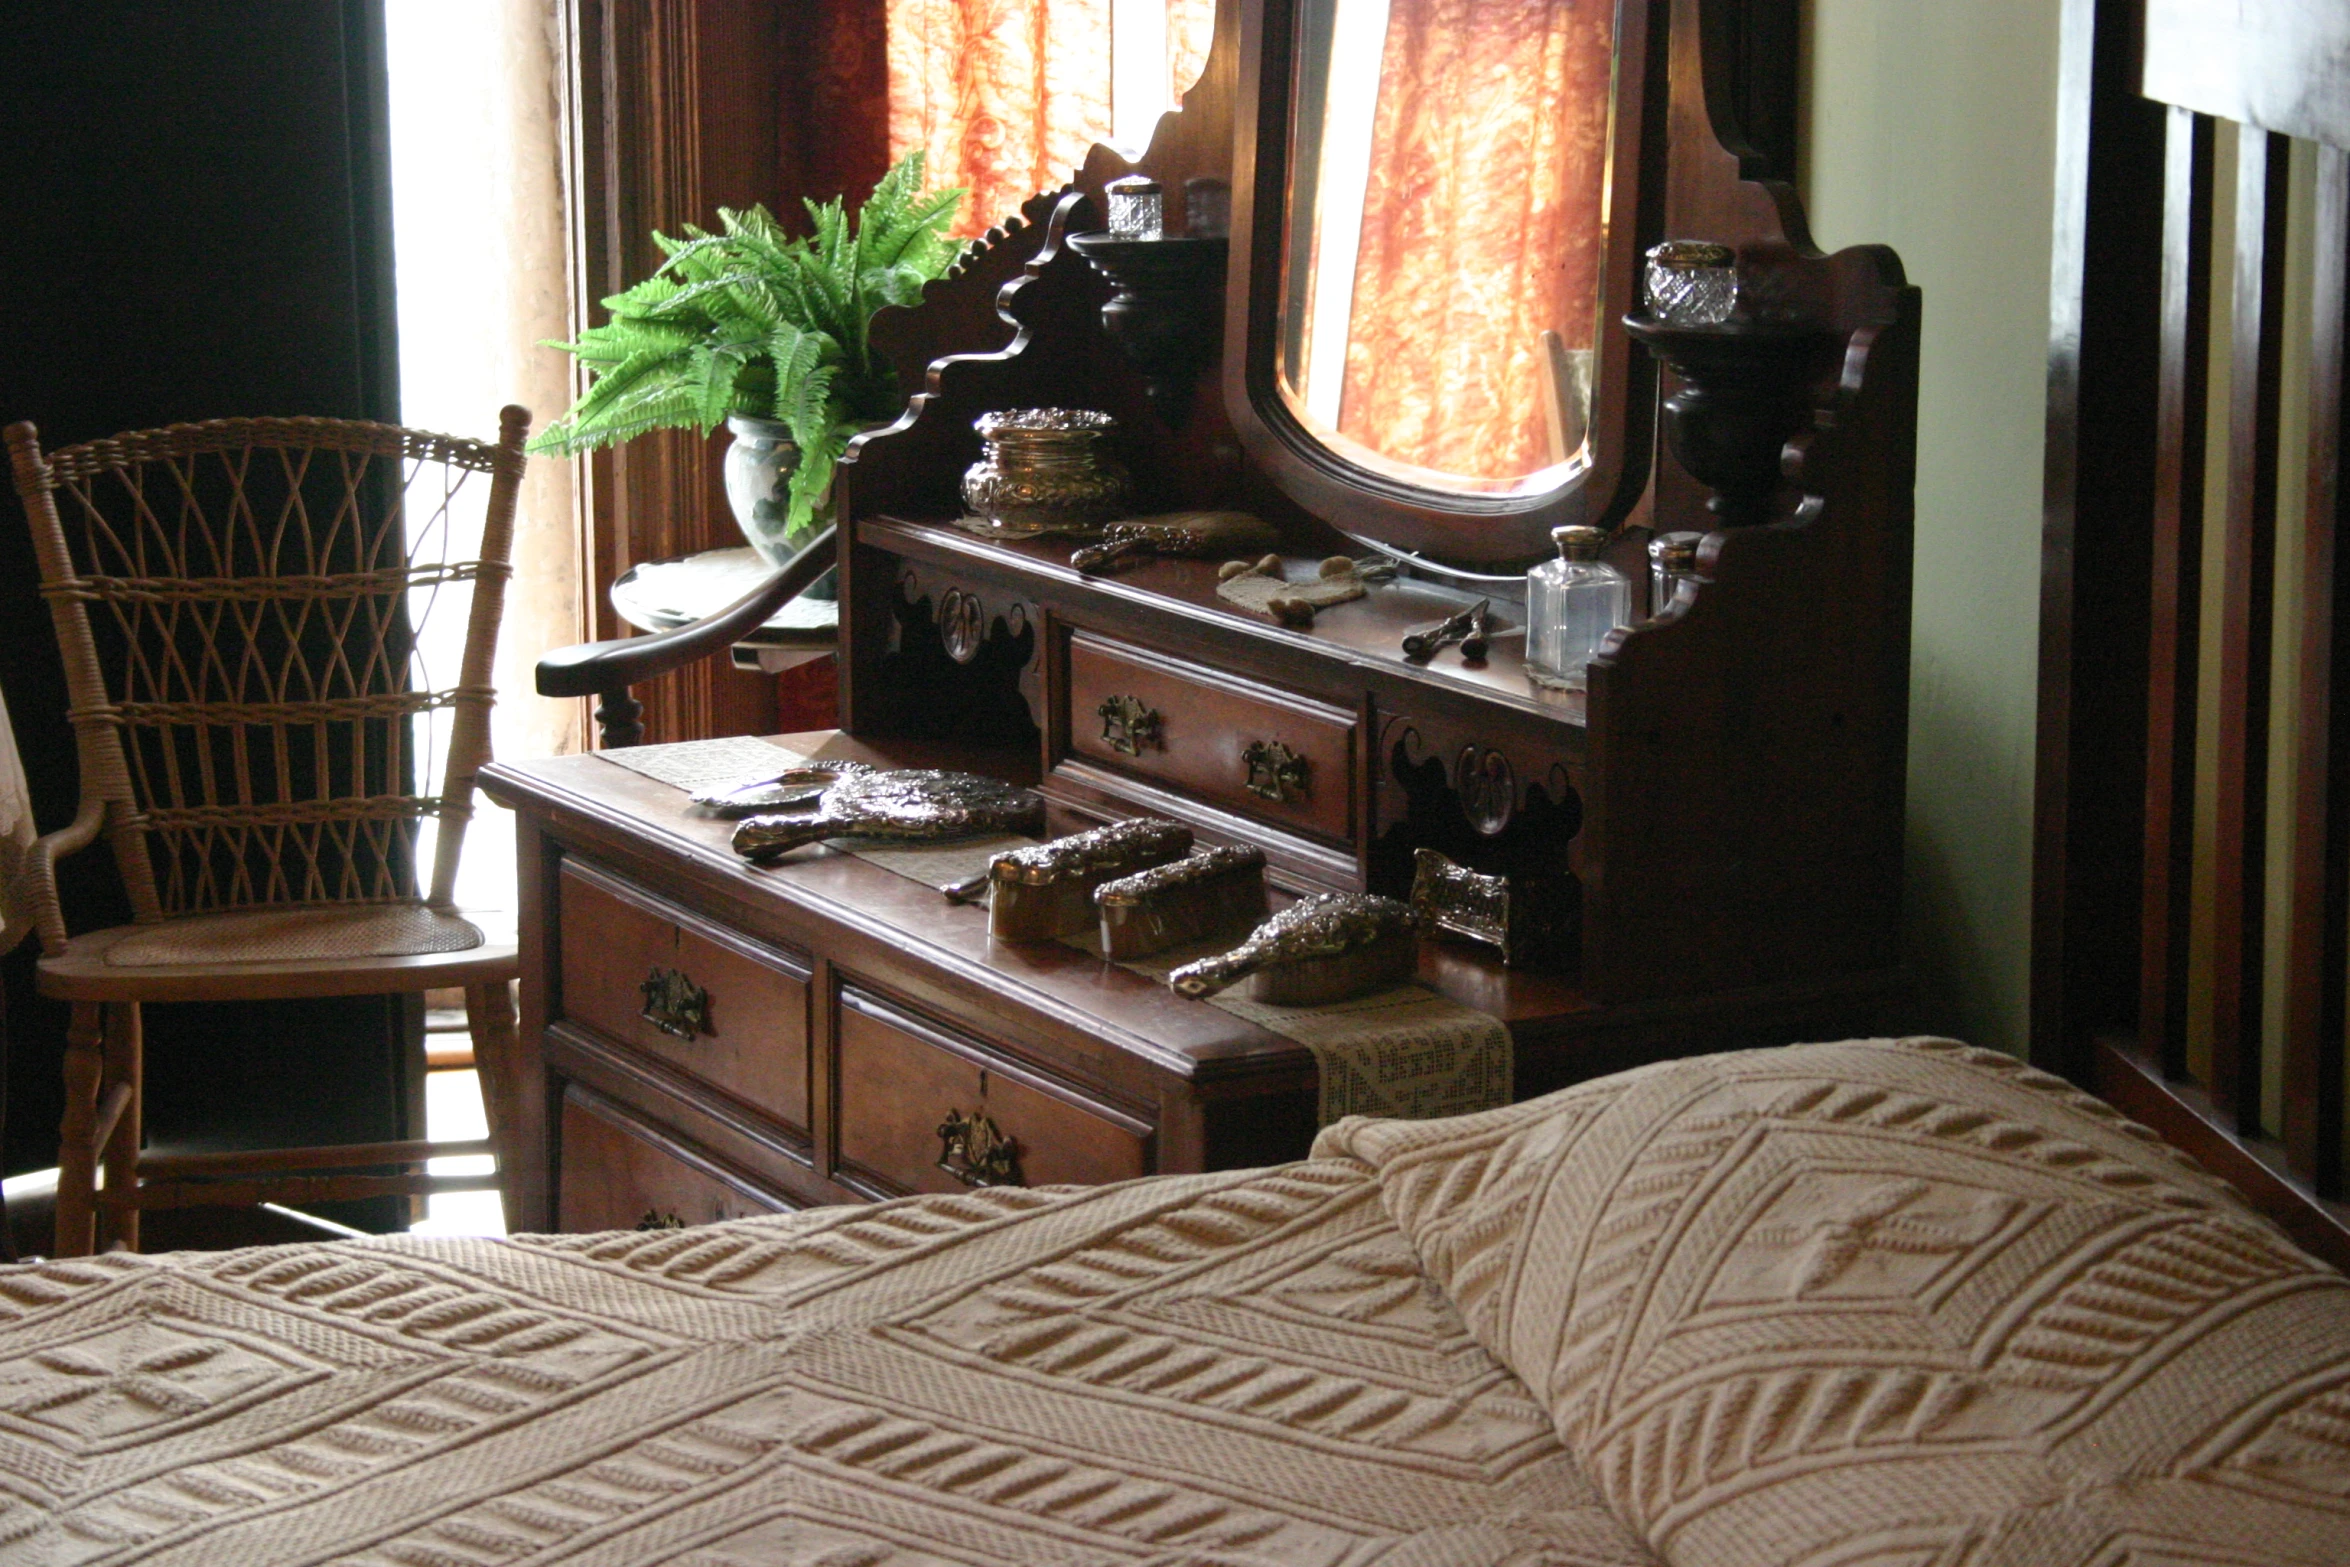
[[[1356,714],[1088,632],[1069,634],[1069,752],[1347,843]]]

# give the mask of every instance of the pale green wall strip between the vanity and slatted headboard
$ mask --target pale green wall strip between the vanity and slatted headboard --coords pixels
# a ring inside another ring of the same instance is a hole
[[[1925,289],[1908,951],[2023,1050],[2059,0],[1807,0],[1805,204]]]

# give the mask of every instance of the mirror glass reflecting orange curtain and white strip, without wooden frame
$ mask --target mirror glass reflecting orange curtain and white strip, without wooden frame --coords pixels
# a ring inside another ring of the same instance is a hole
[[[1572,456],[1612,49],[1612,7],[1593,0],[1307,9],[1283,374],[1309,423],[1471,482]]]

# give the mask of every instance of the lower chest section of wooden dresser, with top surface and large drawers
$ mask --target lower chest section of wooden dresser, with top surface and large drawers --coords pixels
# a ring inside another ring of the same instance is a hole
[[[794,749],[1034,780],[1034,754]],[[498,764],[519,818],[522,1050],[512,1222],[536,1231],[703,1224],[968,1182],[949,1114],[985,1111],[1018,1179],[1109,1182],[1297,1158],[1314,1139],[1304,1048],[1072,947],[989,942],[982,909],[867,860],[801,850],[759,869],[731,822],[602,756]],[[644,1017],[663,970],[707,991],[691,1038]],[[1781,984],[1603,1008],[1478,949],[1426,944],[1422,977],[1504,1017],[1518,1085],[1866,1029],[1887,987]]]

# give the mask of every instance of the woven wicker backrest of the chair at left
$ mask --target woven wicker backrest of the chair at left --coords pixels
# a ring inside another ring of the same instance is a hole
[[[52,453],[7,430],[134,919],[416,897],[425,818],[449,907],[526,432],[517,406],[494,446],[334,418]]]

